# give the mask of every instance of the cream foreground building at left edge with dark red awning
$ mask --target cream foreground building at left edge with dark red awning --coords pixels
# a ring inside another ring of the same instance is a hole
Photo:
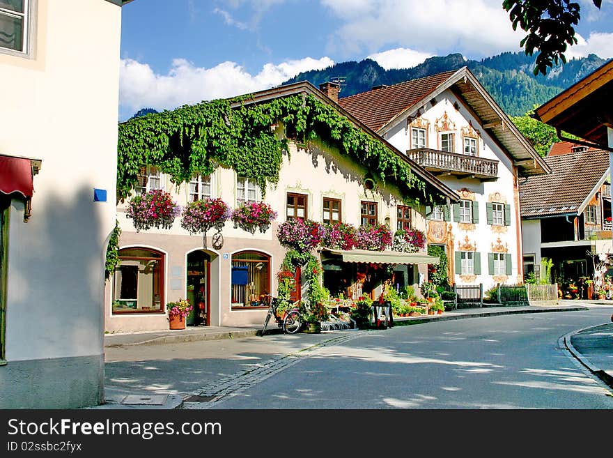
[[[0,1],[0,409],[103,400],[121,3]]]

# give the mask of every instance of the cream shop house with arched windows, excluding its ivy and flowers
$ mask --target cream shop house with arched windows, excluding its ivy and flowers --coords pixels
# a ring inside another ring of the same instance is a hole
[[[143,165],[132,196],[136,192],[159,188],[169,192],[181,206],[204,197],[219,197],[231,208],[245,201],[264,200],[278,216],[269,228],[254,234],[233,227],[233,223],[228,221],[221,231],[223,245],[219,245],[212,240],[214,229],[208,232],[204,243],[202,235],[189,234],[181,227],[180,216],[169,229],[136,231],[132,220],[126,217],[130,201],[126,199],[118,205],[122,230],[120,264],[106,289],[104,318],[107,331],[167,329],[169,323],[164,305],[179,298],[187,298],[194,305],[201,304],[197,313],[188,318],[188,325],[263,323],[266,307],[260,305],[258,297],[265,293],[277,295],[277,274],[286,254],[277,238],[280,223],[300,217],[320,223],[350,223],[355,227],[387,223],[396,228],[403,224],[403,227],[424,231],[424,204],[428,197],[435,196],[437,202],[455,199],[453,192],[437,178],[396,151],[307,82],[254,93],[242,98],[242,103],[247,107],[257,106],[293,96],[299,97],[296,100],[317,104],[312,109],[332,109],[332,116],[338,114],[348,119],[355,135],[365,135],[368,141],[387,148],[393,160],[408,165],[416,186],[422,190],[414,188],[408,192],[403,188],[405,183],[394,181],[393,176],[384,182],[374,168],[368,169],[348,153],[341,153],[341,142],[332,138],[326,141],[321,138],[301,139],[281,121],[274,121],[270,127],[279,138],[288,139],[288,151],[282,157],[278,181],[269,181],[265,189],[258,185],[253,175],[238,174],[227,166],[216,166],[211,174],[195,174],[188,183],[173,184],[169,176],[160,173],[160,169]],[[164,119],[163,116],[171,114],[149,114],[127,121],[126,126],[130,123],[146,125],[156,117]],[[155,126],[155,123],[150,125]],[[151,133],[154,134],[151,138],[159,137],[159,132]],[[358,151],[358,154],[362,153],[366,152]],[[378,164],[377,159],[371,161],[373,165]],[[438,260],[428,257],[425,250],[398,254],[389,250],[365,253],[322,249],[319,255],[323,261],[323,283],[331,293],[348,293],[356,286],[357,277],[364,268],[371,266],[381,272],[378,267],[391,263],[396,265],[398,282],[402,280],[403,285],[415,285],[420,273],[427,275],[428,263]],[[130,269],[134,272],[130,273]],[[295,300],[301,299],[308,287],[304,273],[297,272],[297,286],[293,292]],[[348,283],[346,288],[341,288],[344,280]],[[376,283],[370,289],[362,290],[373,297],[378,291],[380,285]],[[130,307],[126,307],[128,302]]]

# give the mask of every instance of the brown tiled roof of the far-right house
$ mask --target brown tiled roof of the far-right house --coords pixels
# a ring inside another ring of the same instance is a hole
[[[522,217],[578,213],[579,207],[609,168],[609,153],[603,150],[548,156],[549,175],[520,181]]]

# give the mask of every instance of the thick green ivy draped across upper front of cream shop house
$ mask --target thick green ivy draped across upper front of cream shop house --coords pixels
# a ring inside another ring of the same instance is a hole
[[[288,96],[245,105],[249,97],[184,105],[173,111],[139,116],[119,125],[117,197],[137,184],[147,165],[159,167],[176,184],[217,167],[254,178],[261,190],[279,181],[287,139],[272,126],[282,123],[303,139],[320,139],[339,148],[372,171],[383,183],[392,181],[406,201],[437,204],[438,190],[414,176],[410,165],[383,142],[355,127],[332,106],[314,96]]]

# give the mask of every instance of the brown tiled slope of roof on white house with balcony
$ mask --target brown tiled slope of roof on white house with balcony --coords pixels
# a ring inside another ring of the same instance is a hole
[[[355,96],[340,98],[339,105],[376,132],[405,109],[434,91],[455,72],[456,70],[453,70],[411,79],[393,86],[383,86]]]

